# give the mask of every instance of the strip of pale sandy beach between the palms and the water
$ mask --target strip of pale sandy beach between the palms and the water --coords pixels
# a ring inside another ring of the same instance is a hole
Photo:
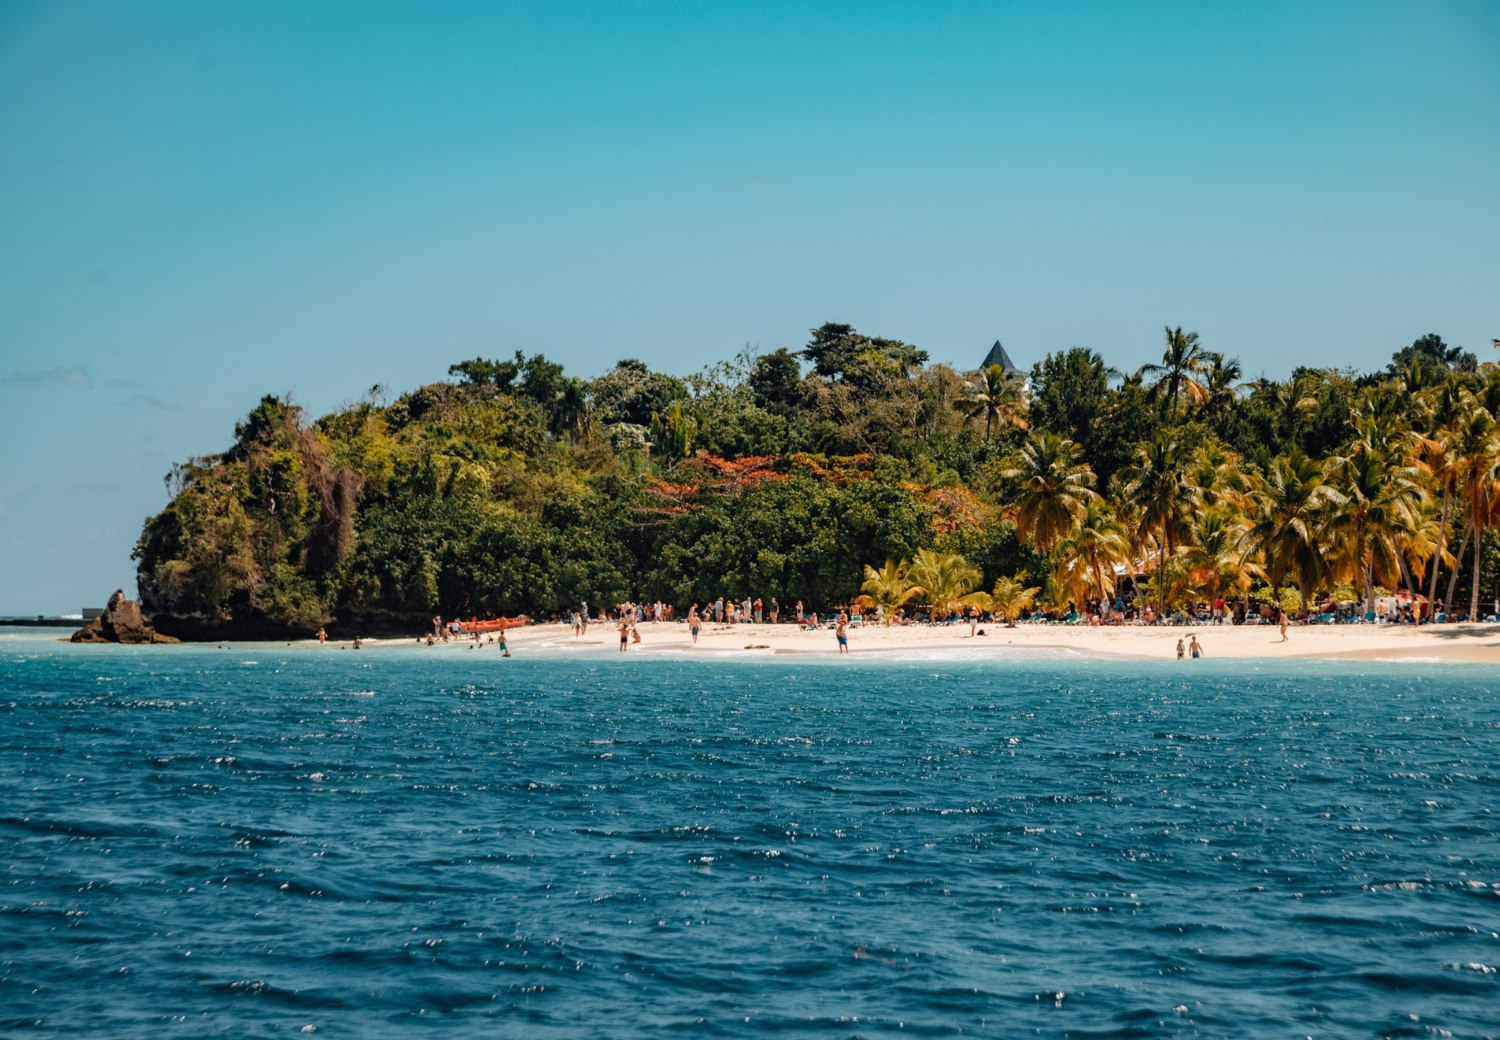
[[[1294,624],[1287,641],[1275,626],[1107,626],[1017,624],[1006,629],[981,624],[984,635],[969,635],[968,624],[906,624],[850,627],[852,654],[912,651],[1066,650],[1101,659],[1172,660],[1178,639],[1186,642],[1197,633],[1203,656],[1209,659],[1280,657],[1432,660],[1500,663],[1500,624]],[[574,636],[572,626],[534,624],[512,629],[507,639],[513,651],[528,645],[554,651],[615,651],[620,645],[615,626],[591,624],[586,635]],[[698,645],[687,624],[678,621],[640,624],[640,644],[632,651],[674,650],[704,654],[760,651],[766,654],[837,654],[832,629],[800,630],[795,624],[710,624]]]

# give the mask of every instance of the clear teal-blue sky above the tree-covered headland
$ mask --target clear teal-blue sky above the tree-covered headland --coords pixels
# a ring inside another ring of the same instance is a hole
[[[1500,3],[0,5],[0,614],[262,393],[1500,336]]]

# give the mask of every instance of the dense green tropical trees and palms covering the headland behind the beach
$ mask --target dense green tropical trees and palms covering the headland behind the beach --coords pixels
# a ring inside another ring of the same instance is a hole
[[[1500,366],[1437,336],[1252,383],[1173,327],[1160,365],[1071,348],[1023,383],[842,324],[693,375],[516,353],[450,377],[316,420],[264,398],[170,474],[147,609],[292,630],[744,594],[1005,618],[1496,596]]]

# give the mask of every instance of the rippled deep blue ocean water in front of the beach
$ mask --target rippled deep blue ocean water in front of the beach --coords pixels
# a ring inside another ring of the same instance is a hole
[[[1482,666],[0,636],[0,1034],[1500,1034]]]

